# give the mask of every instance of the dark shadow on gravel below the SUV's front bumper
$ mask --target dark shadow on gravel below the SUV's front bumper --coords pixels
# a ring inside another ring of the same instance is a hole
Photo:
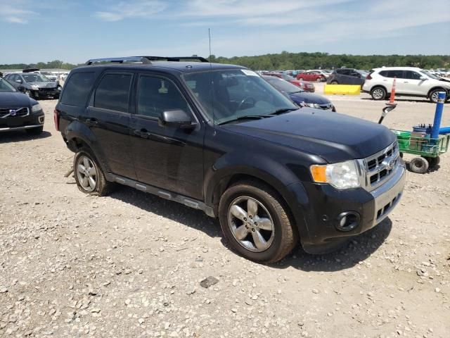
[[[271,265],[273,268],[293,268],[303,271],[339,271],[352,268],[354,265],[371,256],[385,242],[392,230],[392,221],[385,218],[382,223],[371,230],[352,238],[341,249],[323,255],[311,255],[301,248],[285,258],[281,263]],[[294,258],[293,256],[296,256]]]

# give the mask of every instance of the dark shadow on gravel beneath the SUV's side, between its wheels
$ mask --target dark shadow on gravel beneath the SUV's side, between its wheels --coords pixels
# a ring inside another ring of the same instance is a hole
[[[221,237],[219,222],[205,215],[203,211],[125,186],[118,187],[109,196],[136,206],[143,212],[155,213],[164,218],[169,218],[169,220],[192,227],[195,230],[203,231],[210,237]]]

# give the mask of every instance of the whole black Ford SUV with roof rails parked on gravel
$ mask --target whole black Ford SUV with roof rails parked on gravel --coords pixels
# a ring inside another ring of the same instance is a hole
[[[55,122],[82,192],[117,182],[201,209],[264,263],[299,239],[331,251],[398,203],[405,170],[386,127],[299,108],[252,70],[198,59],[98,59],[70,72]]]

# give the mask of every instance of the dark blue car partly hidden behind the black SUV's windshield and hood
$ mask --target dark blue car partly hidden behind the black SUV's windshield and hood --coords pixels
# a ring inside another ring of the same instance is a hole
[[[263,78],[280,92],[288,95],[297,106],[336,111],[335,106],[324,96],[305,92],[300,87],[297,87],[288,81],[281,80],[278,77],[263,76]]]

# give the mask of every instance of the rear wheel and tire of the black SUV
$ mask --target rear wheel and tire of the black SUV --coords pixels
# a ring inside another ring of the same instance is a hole
[[[91,149],[81,148],[73,160],[74,176],[80,192],[105,196],[113,189],[113,183],[105,179],[103,170]]]

